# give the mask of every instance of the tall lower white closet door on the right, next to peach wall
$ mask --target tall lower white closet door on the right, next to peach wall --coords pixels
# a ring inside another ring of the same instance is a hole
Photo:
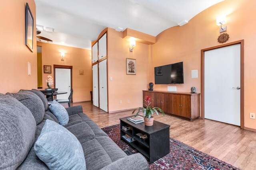
[[[99,63],[100,109],[108,111],[107,60]]]

